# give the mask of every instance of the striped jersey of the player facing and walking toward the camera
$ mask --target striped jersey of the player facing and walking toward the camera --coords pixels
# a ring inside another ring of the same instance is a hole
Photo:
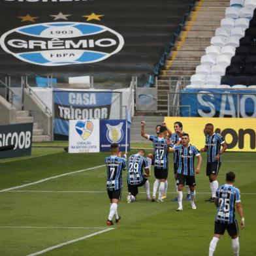
[[[200,155],[199,150],[197,150],[197,148],[191,144],[189,144],[187,147],[182,145],[175,146],[174,150],[178,155],[177,173],[194,176],[194,160],[195,156]]]

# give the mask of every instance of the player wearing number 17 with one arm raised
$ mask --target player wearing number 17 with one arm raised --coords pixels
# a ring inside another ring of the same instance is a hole
[[[152,202],[156,200],[156,193],[159,187],[159,197],[157,202],[163,202],[162,195],[165,193],[165,181],[168,177],[168,152],[170,140],[167,140],[167,128],[161,125],[159,135],[147,135],[145,130],[145,121],[141,121],[141,136],[153,142],[154,174],[155,182],[153,184]],[[160,185],[159,185],[160,184]]]

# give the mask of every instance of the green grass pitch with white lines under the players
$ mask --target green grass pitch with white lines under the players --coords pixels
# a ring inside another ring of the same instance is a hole
[[[108,153],[68,154],[62,148],[33,148],[29,157],[0,159],[0,190],[36,182],[67,172],[104,164]],[[54,144],[65,146],[65,144]],[[150,144],[133,145],[149,147]],[[147,150],[149,153],[151,150]],[[132,150],[130,153],[135,153]],[[196,177],[197,210],[184,201],[176,212],[172,155],[168,176],[168,197],[163,203],[147,202],[143,187],[137,201],[127,204],[124,173],[123,197],[118,206],[121,223],[112,231],[53,249],[43,255],[208,255],[214,231],[216,208],[210,202],[206,155]],[[256,255],[256,158],[254,153],[225,153],[219,184],[225,173],[236,173],[236,187],[242,193],[246,229],[240,231],[240,255]],[[153,172],[152,172],[153,173]],[[109,212],[104,167],[62,176],[40,184],[0,192],[0,255],[25,256],[63,242],[104,231]],[[150,177],[152,193],[153,175]],[[185,196],[185,190],[184,190]],[[238,219],[240,219],[238,217]],[[231,240],[225,234],[215,255],[232,255]]]

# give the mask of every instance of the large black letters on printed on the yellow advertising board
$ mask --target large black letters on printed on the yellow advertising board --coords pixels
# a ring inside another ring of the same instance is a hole
[[[227,143],[227,148],[229,149],[234,148],[237,145],[238,148],[242,150],[244,148],[245,137],[249,137],[249,147],[251,148],[251,150],[254,150],[256,148],[256,134],[253,129],[239,129],[237,133],[234,129],[231,128],[224,129],[223,131],[217,128],[215,132],[223,136],[224,139],[227,135],[230,135],[232,137],[231,142]]]

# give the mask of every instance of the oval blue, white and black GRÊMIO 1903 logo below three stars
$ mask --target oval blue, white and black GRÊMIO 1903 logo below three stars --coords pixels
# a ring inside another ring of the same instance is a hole
[[[98,24],[49,22],[7,31],[0,45],[12,56],[35,65],[95,63],[120,52],[120,33]]]

